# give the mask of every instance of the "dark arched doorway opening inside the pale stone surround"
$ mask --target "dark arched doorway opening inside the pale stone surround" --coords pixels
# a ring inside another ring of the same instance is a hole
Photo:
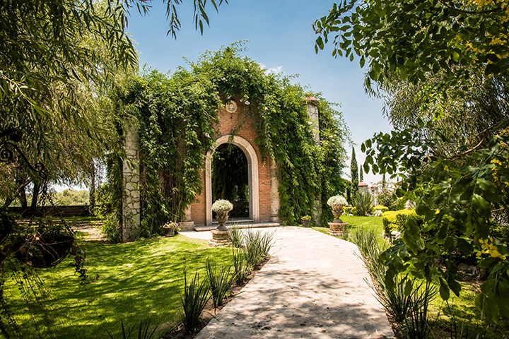
[[[249,178],[247,157],[236,145],[218,145],[211,163],[212,201],[226,199],[233,203],[230,219],[249,218]]]

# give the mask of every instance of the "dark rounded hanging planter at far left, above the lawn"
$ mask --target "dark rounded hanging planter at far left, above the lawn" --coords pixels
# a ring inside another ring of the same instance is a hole
[[[35,268],[57,266],[69,254],[74,237],[62,233],[30,234],[13,244],[14,255]]]

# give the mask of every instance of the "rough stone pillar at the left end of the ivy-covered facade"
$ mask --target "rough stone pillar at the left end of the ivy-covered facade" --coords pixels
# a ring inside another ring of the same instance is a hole
[[[122,242],[132,242],[139,237],[139,140],[138,127],[129,124],[124,133],[126,157],[122,167],[125,195],[122,201]]]

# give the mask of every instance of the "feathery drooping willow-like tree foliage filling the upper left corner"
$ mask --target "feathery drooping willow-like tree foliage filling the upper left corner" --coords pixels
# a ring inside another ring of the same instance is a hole
[[[168,34],[175,37],[182,0],[163,2]],[[222,2],[208,4],[217,10]],[[209,23],[206,5],[194,0],[193,20],[201,31]],[[124,32],[131,8],[150,10],[142,0],[0,4],[0,133],[17,129],[19,150],[30,164],[44,165],[51,182],[87,182],[95,172],[93,159],[115,143],[115,124],[121,121],[107,94],[138,69],[136,49]],[[10,147],[2,144],[2,150]],[[17,156],[1,158],[9,162],[0,166],[0,196],[7,202],[41,181]]]

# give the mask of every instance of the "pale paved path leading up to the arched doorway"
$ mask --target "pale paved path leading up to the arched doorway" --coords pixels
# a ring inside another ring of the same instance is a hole
[[[257,232],[274,232],[271,259],[197,339],[394,338],[354,244],[302,227]]]

